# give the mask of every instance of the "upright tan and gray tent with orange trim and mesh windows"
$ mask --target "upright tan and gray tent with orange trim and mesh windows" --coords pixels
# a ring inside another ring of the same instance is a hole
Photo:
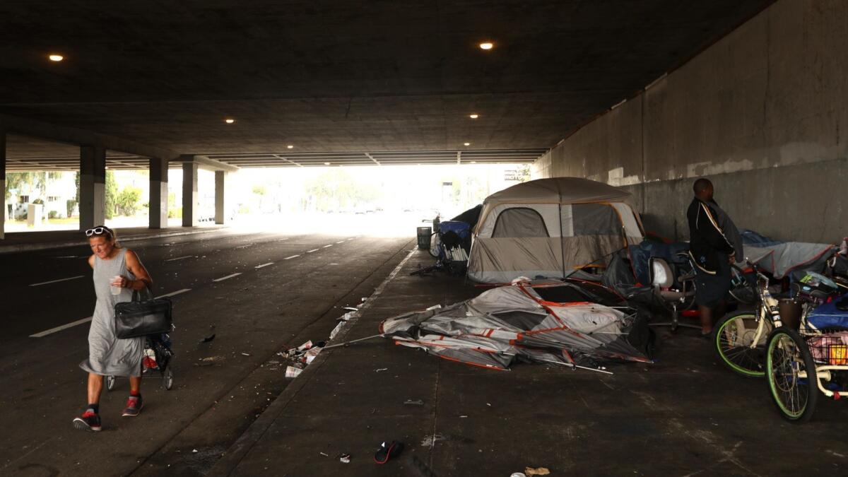
[[[619,188],[579,177],[538,179],[489,195],[474,231],[468,276],[510,283],[603,266],[616,250],[642,241],[631,200]]]

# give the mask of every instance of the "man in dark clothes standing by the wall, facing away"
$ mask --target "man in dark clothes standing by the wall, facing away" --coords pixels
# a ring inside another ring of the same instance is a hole
[[[712,199],[712,182],[700,178],[689,204],[689,256],[695,263],[695,303],[700,312],[701,334],[724,315],[730,290],[730,265],[743,260],[742,239],[734,222]]]

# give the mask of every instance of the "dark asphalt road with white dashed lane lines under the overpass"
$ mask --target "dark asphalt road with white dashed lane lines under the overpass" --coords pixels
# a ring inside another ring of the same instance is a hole
[[[203,474],[287,384],[276,352],[325,340],[342,307],[371,295],[413,246],[232,229],[129,243],[153,295],[174,302],[174,388],[146,375],[144,411],[121,418],[119,379],[104,391],[100,433],[70,424],[86,404],[90,250],[0,255],[0,474]]]

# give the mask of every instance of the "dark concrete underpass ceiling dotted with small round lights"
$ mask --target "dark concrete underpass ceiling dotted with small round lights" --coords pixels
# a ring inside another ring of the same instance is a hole
[[[527,161],[768,3],[3,2],[0,113],[243,166]]]

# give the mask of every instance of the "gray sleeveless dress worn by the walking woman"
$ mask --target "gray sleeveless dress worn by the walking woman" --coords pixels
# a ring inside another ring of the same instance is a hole
[[[114,335],[114,304],[132,300],[131,289],[121,289],[120,295],[112,295],[109,282],[115,275],[135,279],[126,269],[126,249],[118,249],[117,255],[109,260],[94,255],[94,292],[98,303],[88,330],[88,359],[80,363],[80,368],[101,375],[141,376],[144,338],[119,340]]]

